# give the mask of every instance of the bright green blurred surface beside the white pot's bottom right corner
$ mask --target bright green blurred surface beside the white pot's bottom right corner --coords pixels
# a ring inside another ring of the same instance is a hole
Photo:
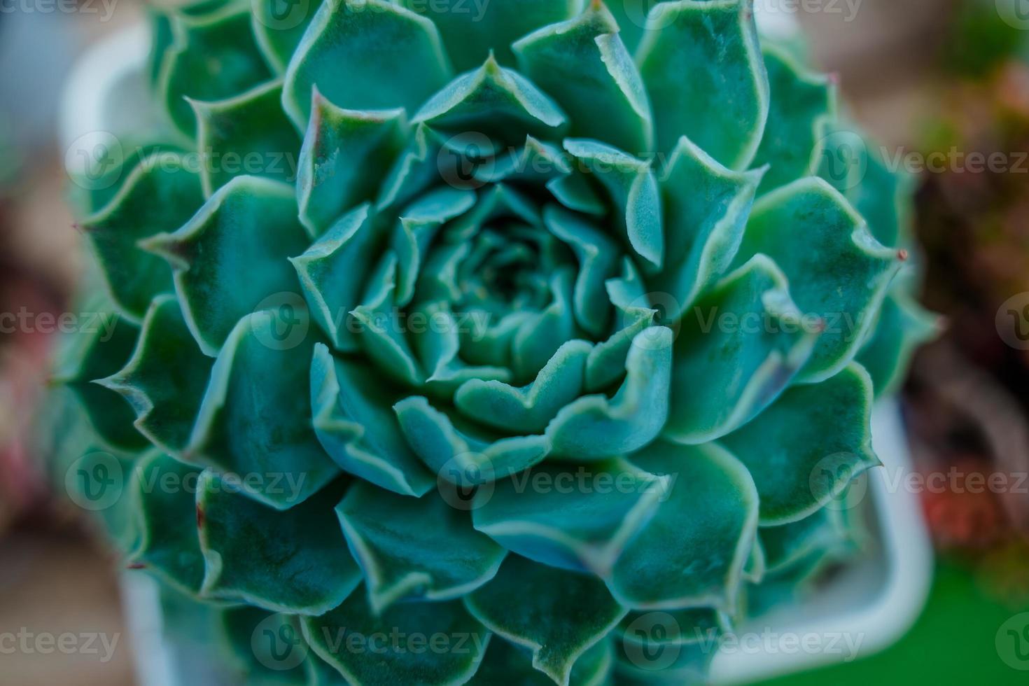
[[[1029,572],[1027,572],[1029,573]],[[1005,656],[1026,671],[1008,666],[997,651],[997,633],[1029,605],[1007,607],[988,595],[973,572],[955,563],[936,567],[928,604],[915,626],[889,649],[849,664],[761,682],[762,686],[926,686],[1029,685],[1029,616],[1017,623],[1024,659],[1015,639],[1004,636]],[[1009,628],[1010,624],[1005,627]]]

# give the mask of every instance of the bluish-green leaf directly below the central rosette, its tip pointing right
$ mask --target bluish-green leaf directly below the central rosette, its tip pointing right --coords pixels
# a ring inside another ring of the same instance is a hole
[[[668,479],[614,459],[543,463],[472,502],[475,529],[543,565],[606,576],[657,509]]]

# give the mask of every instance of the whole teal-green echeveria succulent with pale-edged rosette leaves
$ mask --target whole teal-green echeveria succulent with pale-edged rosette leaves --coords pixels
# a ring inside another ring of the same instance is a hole
[[[845,547],[902,185],[748,1],[582,4],[155,16],[67,483],[251,680],[682,683]]]

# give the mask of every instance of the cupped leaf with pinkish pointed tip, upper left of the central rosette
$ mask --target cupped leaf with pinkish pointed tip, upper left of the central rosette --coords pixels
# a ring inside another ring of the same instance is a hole
[[[355,205],[375,197],[407,138],[402,109],[345,110],[313,89],[296,178],[300,223],[318,238]]]

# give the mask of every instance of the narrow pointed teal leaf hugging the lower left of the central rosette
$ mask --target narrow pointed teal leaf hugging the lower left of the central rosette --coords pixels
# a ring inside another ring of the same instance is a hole
[[[393,413],[398,396],[372,369],[335,358],[315,345],[311,405],[315,434],[343,469],[405,496],[422,496],[435,481],[407,447]]]

